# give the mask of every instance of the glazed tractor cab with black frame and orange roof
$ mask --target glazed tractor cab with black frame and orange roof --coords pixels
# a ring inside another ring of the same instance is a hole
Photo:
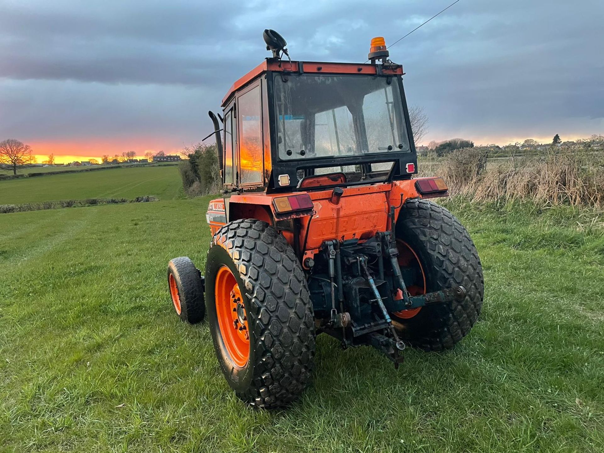
[[[273,193],[411,178],[417,156],[402,75],[391,62],[266,59],[226,93],[222,127],[215,120],[224,190]]]

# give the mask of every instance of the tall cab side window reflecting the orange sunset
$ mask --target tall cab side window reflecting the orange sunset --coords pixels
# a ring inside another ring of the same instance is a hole
[[[239,179],[241,184],[262,182],[262,113],[260,86],[242,94],[237,101],[239,120]]]

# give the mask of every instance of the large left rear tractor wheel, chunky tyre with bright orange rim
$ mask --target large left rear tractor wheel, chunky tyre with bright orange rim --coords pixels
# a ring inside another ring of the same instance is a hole
[[[276,408],[310,381],[315,330],[308,286],[294,250],[260,220],[236,220],[214,234],[205,300],[226,381],[245,402]]]

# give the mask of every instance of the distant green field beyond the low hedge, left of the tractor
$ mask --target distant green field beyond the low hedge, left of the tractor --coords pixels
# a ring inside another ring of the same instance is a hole
[[[0,204],[85,198],[135,198],[154,195],[162,200],[182,193],[176,165],[77,172],[0,181]]]

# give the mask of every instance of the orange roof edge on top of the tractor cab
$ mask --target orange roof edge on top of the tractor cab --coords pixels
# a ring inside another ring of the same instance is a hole
[[[378,68],[378,66],[380,67]],[[381,72],[382,74],[391,76],[402,76],[404,74],[403,67],[400,65],[382,66],[370,63],[284,62],[283,60],[267,58],[231,85],[231,88],[226,92],[225,97],[222,98],[221,106],[224,107],[226,105],[226,102],[231,98],[234,92],[243,88],[243,86],[267,71],[297,72],[298,74],[303,74],[304,72],[311,72],[314,74],[320,72],[326,74],[378,74]]]

